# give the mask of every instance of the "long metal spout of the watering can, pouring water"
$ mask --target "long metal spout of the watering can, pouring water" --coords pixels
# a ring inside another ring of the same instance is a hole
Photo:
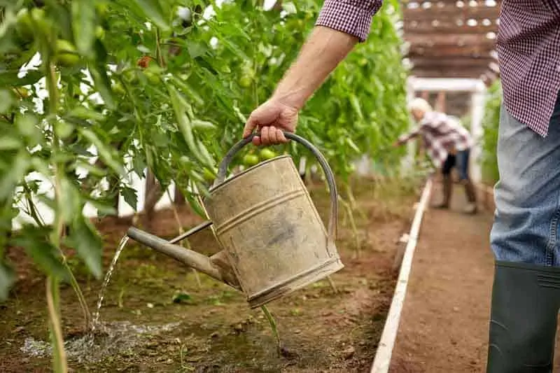
[[[188,250],[179,245],[171,244],[165,239],[154,236],[143,230],[139,230],[137,227],[130,227],[127,236],[134,241],[138,241],[155,251],[163,253],[179,262],[188,265],[200,271],[212,278],[222,281],[232,288],[239,288],[239,281],[235,274],[232,272],[232,268],[229,265],[228,258],[225,257],[225,252],[220,251],[211,257],[197,253],[196,251]]]

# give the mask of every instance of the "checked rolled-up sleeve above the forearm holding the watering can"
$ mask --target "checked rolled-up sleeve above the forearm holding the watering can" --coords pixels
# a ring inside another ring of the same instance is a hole
[[[383,0],[325,0],[316,25],[351,34],[363,42],[382,4]]]

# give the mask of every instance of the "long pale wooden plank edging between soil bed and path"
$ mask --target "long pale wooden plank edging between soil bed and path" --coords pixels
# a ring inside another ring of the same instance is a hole
[[[433,181],[431,178],[426,181],[426,186],[424,187],[422,196],[420,197],[416,213],[414,213],[414,220],[412,220],[412,227],[410,228],[408,242],[405,248],[405,255],[402,257],[402,264],[400,265],[400,272],[397,285],[395,286],[395,293],[393,294],[391,308],[389,308],[387,314],[383,333],[381,334],[381,339],[379,339],[379,346],[377,346],[377,351],[375,353],[370,373],[387,373],[389,366],[391,365],[391,356],[393,354],[393,347],[395,346],[395,340],[397,338],[402,306],[405,302],[410,268],[412,267],[412,257],[414,256],[414,250],[416,249],[416,242],[418,241],[418,234],[420,231],[423,213],[426,211],[426,206],[428,205],[428,200],[430,199],[432,183]]]

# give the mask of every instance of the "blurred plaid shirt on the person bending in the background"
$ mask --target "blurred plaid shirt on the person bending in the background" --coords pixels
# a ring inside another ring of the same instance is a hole
[[[466,150],[472,146],[472,138],[457,119],[444,113],[430,111],[411,132],[399,137],[404,143],[415,136],[422,136],[426,152],[436,167],[442,167],[450,151]]]

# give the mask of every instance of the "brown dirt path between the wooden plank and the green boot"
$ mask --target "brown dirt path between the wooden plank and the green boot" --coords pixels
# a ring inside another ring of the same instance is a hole
[[[440,198],[435,184],[433,199]],[[391,373],[484,372],[493,255],[492,215],[430,209],[421,227]]]

